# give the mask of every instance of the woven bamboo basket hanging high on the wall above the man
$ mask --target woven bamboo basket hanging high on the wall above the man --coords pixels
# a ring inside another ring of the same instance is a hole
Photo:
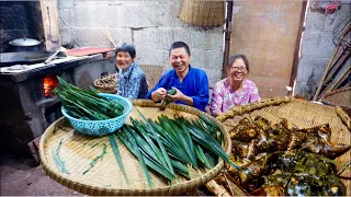
[[[225,22],[224,1],[183,0],[179,18],[200,26],[220,26]]]

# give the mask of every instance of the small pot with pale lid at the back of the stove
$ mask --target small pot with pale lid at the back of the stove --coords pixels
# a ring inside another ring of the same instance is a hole
[[[41,42],[32,38],[20,38],[9,43],[10,51],[39,51]]]

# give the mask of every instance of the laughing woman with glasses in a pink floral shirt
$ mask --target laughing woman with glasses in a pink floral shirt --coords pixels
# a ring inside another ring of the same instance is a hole
[[[256,84],[247,79],[249,60],[245,55],[229,58],[227,78],[218,81],[213,89],[211,113],[219,116],[237,105],[246,105],[260,101]]]

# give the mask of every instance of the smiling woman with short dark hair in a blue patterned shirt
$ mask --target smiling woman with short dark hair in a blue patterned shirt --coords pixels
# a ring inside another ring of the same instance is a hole
[[[116,49],[116,67],[121,69],[117,95],[127,99],[145,99],[148,91],[146,77],[140,67],[134,62],[135,55],[133,45],[123,44]]]

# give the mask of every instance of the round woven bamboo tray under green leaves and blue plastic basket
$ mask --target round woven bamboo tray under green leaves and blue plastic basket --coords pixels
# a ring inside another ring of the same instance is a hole
[[[155,104],[148,100],[134,100],[132,101],[134,108],[129,116],[136,119],[141,117],[138,115],[138,108],[146,118],[156,118],[165,114],[168,117],[173,117],[174,114],[181,115],[185,118],[194,118],[199,114],[204,114],[213,121],[218,123],[224,134],[224,149],[227,153],[230,152],[230,137],[224,130],[223,125],[210,115],[197,111],[196,108],[170,104],[166,111],[160,111],[160,104]],[[126,124],[129,124],[127,118]],[[67,170],[70,174],[61,173],[55,164],[53,159],[53,150],[56,150],[59,141],[63,139],[61,148],[59,151],[60,159],[66,163]],[[124,147],[117,139],[120,152],[122,155],[123,164],[126,169],[126,174],[131,184],[128,185],[124,179],[120,166],[114,158],[107,137],[93,138],[78,134],[69,125],[69,121],[61,117],[52,124],[44,135],[39,143],[39,155],[43,169],[49,177],[59,184],[67,186],[87,195],[180,195],[191,192],[196,187],[204,185],[214,178],[224,167],[223,160],[212,170],[203,170],[201,172],[190,169],[191,179],[179,176],[177,183],[168,185],[161,179],[158,174],[150,171],[154,188],[149,188],[145,179],[141,166],[138,160]],[[95,165],[86,174],[82,173],[89,169],[90,162],[100,155],[104,144],[107,146],[106,154],[102,161],[97,161]]]

